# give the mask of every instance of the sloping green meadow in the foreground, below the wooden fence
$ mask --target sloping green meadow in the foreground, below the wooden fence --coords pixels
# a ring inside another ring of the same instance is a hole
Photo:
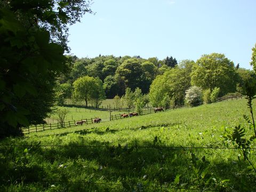
[[[223,140],[238,124],[248,127],[244,114],[238,99],[6,138],[1,189],[256,191],[252,167]],[[250,159],[256,165],[253,149]]]

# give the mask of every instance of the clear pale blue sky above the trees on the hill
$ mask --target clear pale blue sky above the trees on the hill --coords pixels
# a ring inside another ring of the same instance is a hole
[[[223,53],[251,69],[256,43],[255,0],[94,0],[81,23],[69,29],[79,58],[111,55],[166,56],[196,61]]]

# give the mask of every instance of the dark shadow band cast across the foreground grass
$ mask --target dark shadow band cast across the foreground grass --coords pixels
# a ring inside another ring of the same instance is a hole
[[[87,134],[86,130],[77,133]],[[67,147],[0,147],[0,184],[6,187],[10,181],[31,184],[57,180],[71,189],[74,183],[67,182],[71,180],[121,182],[126,190],[141,183],[178,189],[256,191],[255,174],[246,163],[209,162],[205,149],[171,147],[157,140],[133,140],[131,146],[92,140],[88,146],[70,141]]]

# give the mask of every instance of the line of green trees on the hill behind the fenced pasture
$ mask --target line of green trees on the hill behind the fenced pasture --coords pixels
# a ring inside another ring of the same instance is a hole
[[[71,69],[58,78],[59,105],[64,105],[69,98],[84,100],[86,106],[90,101],[98,107],[106,98],[119,97],[130,106],[126,93],[136,90],[145,98],[143,105],[148,102],[154,107],[195,105],[214,102],[230,93],[244,94],[244,84],[255,79],[254,71],[240,68],[239,64],[235,66],[220,53],[204,54],[197,61],[179,62],[173,57],[164,60],[127,55],[99,55],[91,59],[67,57],[71,58]]]

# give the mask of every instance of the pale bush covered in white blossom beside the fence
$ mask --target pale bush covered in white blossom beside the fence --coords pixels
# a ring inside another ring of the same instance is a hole
[[[197,86],[191,86],[186,90],[185,100],[189,106],[198,106],[202,103],[203,93],[202,89]]]

